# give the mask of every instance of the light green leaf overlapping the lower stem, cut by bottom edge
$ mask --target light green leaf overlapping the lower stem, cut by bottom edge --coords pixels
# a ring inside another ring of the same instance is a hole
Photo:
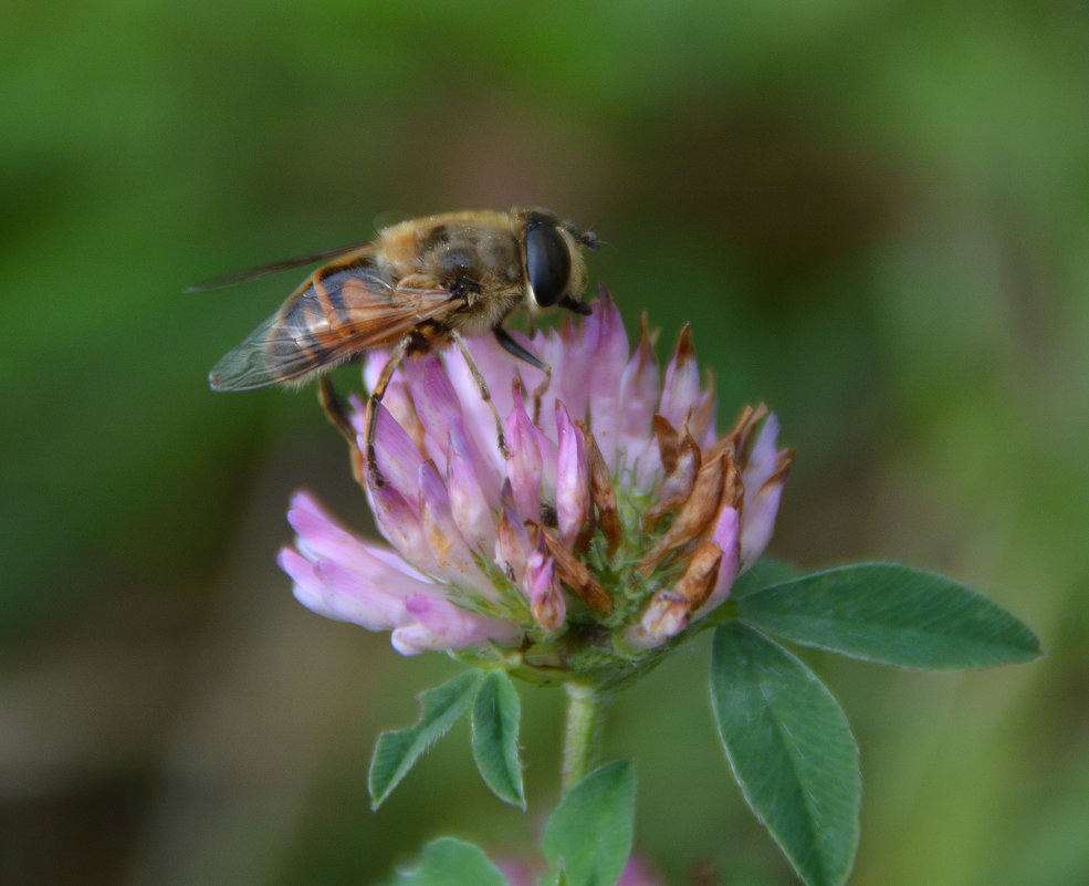
[[[551,876],[561,866],[570,886],[612,886],[631,853],[636,774],[618,760],[594,770],[572,788],[545,828]]]

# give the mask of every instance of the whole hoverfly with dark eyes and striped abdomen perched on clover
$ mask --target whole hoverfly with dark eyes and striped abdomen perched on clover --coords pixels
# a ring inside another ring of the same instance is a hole
[[[217,289],[332,259],[318,268],[264,323],[209,373],[212,390],[252,390],[320,376],[318,394],[329,419],[355,432],[325,373],[391,345],[389,359],[367,400],[364,448],[373,481],[377,407],[394,372],[407,357],[452,342],[461,351],[495,419],[501,451],[503,426],[484,377],[463,336],[489,332],[510,354],[543,371],[549,367],[503,329],[514,311],[531,315],[561,305],[588,314],[584,249],[597,237],[544,209],[462,211],[384,228],[376,240],[304,256],[209,280]]]

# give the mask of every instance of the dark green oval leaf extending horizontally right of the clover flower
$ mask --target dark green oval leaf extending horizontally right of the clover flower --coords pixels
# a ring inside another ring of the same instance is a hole
[[[1039,640],[962,584],[907,566],[861,563],[766,587],[742,621],[806,646],[926,670],[1028,661]]]

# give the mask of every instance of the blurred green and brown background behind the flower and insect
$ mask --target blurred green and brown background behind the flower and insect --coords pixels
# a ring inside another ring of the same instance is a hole
[[[308,486],[369,527],[311,390],[205,375],[302,273],[203,278],[387,220],[547,206],[723,423],[799,457],[773,551],[946,572],[1049,656],[962,676],[806,654],[862,749],[856,884],[1089,883],[1089,8],[1083,2],[9,2],[0,8],[0,880],[364,884],[531,812],[440,746],[368,754],[451,673],[299,606]],[[389,215],[392,213],[392,215]],[[793,875],[715,748],[697,644],[618,703],[677,883]]]

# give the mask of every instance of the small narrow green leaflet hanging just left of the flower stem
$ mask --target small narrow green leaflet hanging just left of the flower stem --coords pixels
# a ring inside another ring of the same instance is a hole
[[[522,706],[505,671],[493,670],[473,702],[473,757],[484,782],[500,800],[525,809],[519,725]]]

